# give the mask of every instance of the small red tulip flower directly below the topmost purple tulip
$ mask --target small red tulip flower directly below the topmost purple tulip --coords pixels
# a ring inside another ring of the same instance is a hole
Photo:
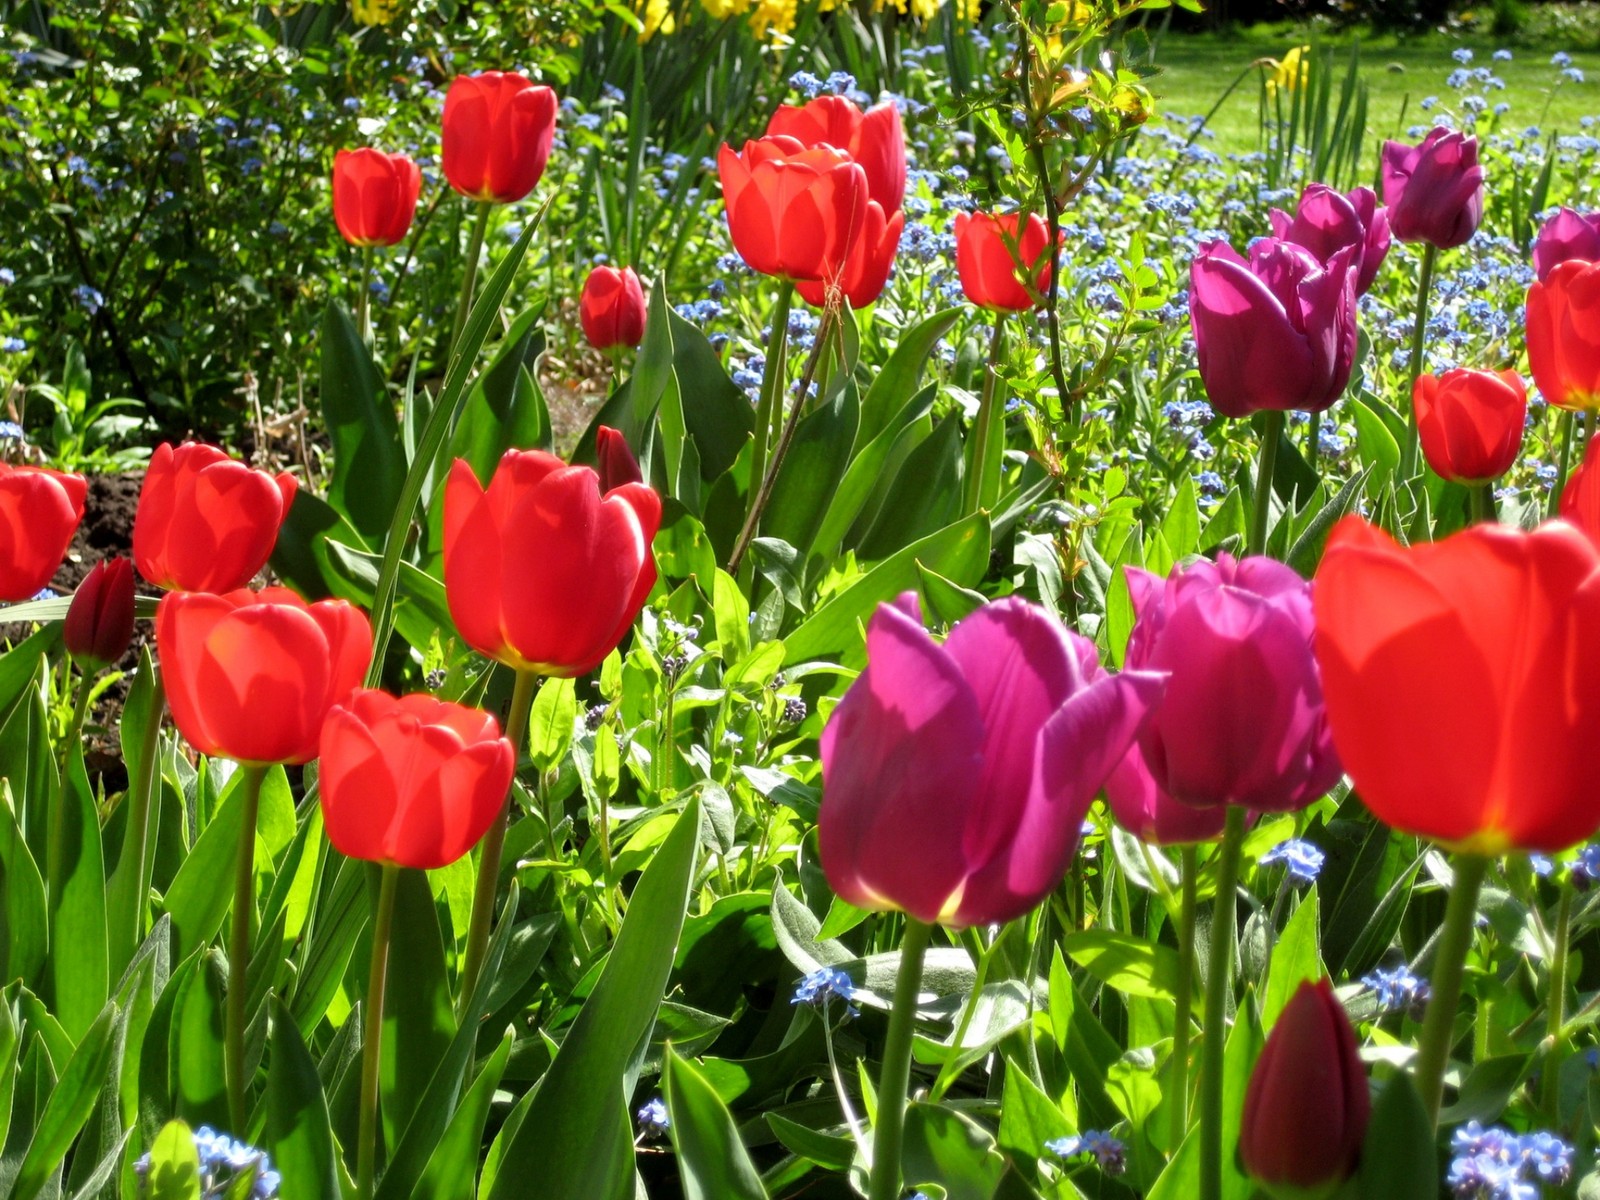
[[[1421,374],[1411,389],[1427,466],[1458,483],[1488,483],[1522,448],[1528,389],[1515,371]]]

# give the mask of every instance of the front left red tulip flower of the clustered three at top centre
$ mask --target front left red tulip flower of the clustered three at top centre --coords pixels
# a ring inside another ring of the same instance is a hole
[[[733,248],[763,275],[834,282],[867,208],[867,176],[830,146],[757,138],[717,155]]]

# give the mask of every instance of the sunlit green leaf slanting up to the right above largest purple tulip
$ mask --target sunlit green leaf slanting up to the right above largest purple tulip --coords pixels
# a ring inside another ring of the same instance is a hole
[[[872,610],[917,587],[918,563],[957,587],[974,586],[989,570],[989,518],[973,514],[885,558],[784,638],[784,664],[859,646],[859,627]]]

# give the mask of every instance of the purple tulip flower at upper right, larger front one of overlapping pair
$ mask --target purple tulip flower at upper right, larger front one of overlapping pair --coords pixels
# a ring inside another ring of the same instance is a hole
[[[1258,238],[1246,259],[1226,242],[1189,267],[1189,320],[1211,406],[1243,418],[1262,408],[1320,413],[1355,363],[1355,246],[1326,266],[1304,246]]]

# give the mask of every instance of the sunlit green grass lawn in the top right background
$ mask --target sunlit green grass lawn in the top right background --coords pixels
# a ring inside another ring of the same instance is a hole
[[[1168,34],[1154,45],[1154,59],[1162,69],[1150,86],[1160,98],[1162,112],[1205,114],[1216,104],[1242,70],[1261,58],[1278,58],[1294,45],[1309,40],[1304,27],[1253,27],[1235,34]],[[1339,35],[1323,38],[1339,46],[1341,64],[1354,45],[1360,53],[1362,77],[1368,88],[1368,141],[1376,138],[1405,136],[1406,126],[1430,123],[1442,110],[1456,104],[1462,93],[1446,86],[1445,80],[1459,64],[1451,51],[1472,51],[1472,67],[1490,67],[1506,82],[1504,91],[1490,91],[1490,104],[1507,102],[1510,109],[1499,118],[1499,128],[1522,131],[1538,125],[1546,131],[1578,133],[1579,118],[1600,115],[1600,53],[1578,48],[1573,42],[1542,37],[1531,43],[1515,43],[1490,35],[1446,37],[1440,34],[1421,38],[1397,38],[1394,35]],[[1592,40],[1584,38],[1589,46]],[[1493,54],[1506,46],[1512,53],[1509,62],[1494,62]],[[1550,56],[1565,50],[1573,66],[1584,72],[1578,83],[1562,77],[1550,66]],[[1248,77],[1222,102],[1211,118],[1216,141],[1206,144],[1218,152],[1256,149],[1256,110],[1261,85],[1259,69]],[[1342,77],[1342,66],[1341,66]],[[1338,85],[1336,85],[1338,86]],[[1472,88],[1470,91],[1477,91]],[[1421,109],[1421,101],[1437,96],[1432,112]],[[1485,114],[1478,133],[1493,130],[1494,122]],[[1600,128],[1595,130],[1600,136]]]

